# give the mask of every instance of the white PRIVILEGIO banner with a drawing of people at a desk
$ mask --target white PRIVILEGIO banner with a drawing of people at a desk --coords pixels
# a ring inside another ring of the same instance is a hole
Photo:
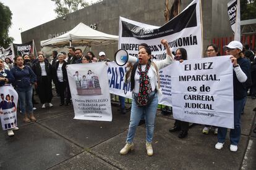
[[[105,62],[67,65],[74,119],[112,121]]]

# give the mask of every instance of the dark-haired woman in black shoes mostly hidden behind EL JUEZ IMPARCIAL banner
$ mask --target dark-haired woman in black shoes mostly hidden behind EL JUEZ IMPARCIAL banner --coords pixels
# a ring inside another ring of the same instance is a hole
[[[184,48],[179,48],[175,52],[175,57],[174,60],[178,60],[182,62],[183,60],[187,60],[187,51]],[[175,120],[174,127],[169,129],[169,132],[176,132],[176,131],[181,131],[179,132],[178,137],[183,139],[187,136],[189,132],[189,123],[186,121],[180,121],[180,120]]]

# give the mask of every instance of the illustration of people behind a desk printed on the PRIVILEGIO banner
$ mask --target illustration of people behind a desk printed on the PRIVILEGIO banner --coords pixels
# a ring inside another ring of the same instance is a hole
[[[77,87],[77,95],[101,94],[100,81],[93,70],[75,71],[74,81]]]

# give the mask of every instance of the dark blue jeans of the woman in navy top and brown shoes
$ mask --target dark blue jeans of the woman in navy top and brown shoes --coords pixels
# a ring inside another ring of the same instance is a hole
[[[25,87],[16,89],[19,95],[19,104],[22,114],[33,113],[32,94],[33,87]]]

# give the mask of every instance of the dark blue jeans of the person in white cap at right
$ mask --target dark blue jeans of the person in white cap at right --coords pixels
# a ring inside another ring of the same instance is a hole
[[[229,139],[231,145],[237,145],[241,137],[241,111],[244,107],[245,97],[240,100],[234,100],[234,129],[230,129]],[[218,142],[224,143],[228,129],[218,127]]]

